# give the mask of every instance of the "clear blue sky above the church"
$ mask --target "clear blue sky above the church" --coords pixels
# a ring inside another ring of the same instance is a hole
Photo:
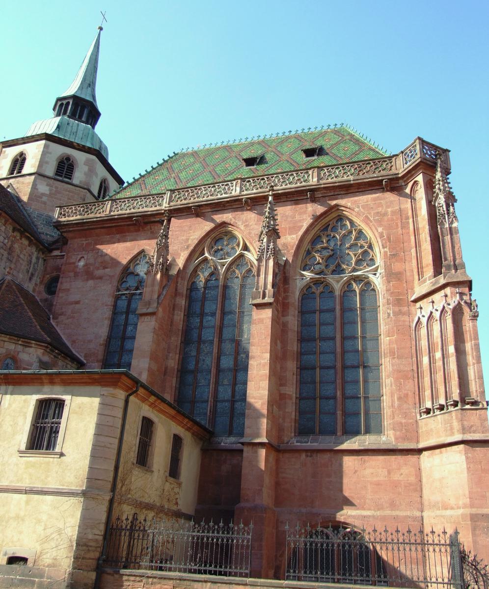
[[[489,3],[4,2],[0,138],[51,116],[100,9],[97,132],[125,180],[181,147],[342,122],[393,153],[450,148],[489,376]]]

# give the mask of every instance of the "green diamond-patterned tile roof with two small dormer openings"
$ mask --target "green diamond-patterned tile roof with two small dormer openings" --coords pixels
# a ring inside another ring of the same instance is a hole
[[[320,147],[318,156],[305,158],[302,150],[307,147]],[[262,155],[262,158],[257,166],[244,167],[243,157],[259,155]],[[375,147],[347,125],[303,133],[289,132],[288,135],[250,141],[245,138],[245,141],[239,140],[237,143],[176,153],[121,188],[116,197],[156,194],[174,188],[316,166],[331,166],[385,155],[385,151]]]

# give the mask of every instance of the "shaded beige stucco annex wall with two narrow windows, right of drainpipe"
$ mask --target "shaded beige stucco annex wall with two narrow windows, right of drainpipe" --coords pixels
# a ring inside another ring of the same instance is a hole
[[[150,468],[136,464],[137,445],[142,416],[147,416],[153,426],[153,457]],[[180,455],[180,478],[168,477],[173,434],[183,439]],[[117,489],[116,514],[138,512],[140,517],[152,517],[174,510],[194,514],[197,503],[197,485],[200,471],[200,448],[202,442],[171,419],[161,415],[132,398],[127,416],[124,436],[123,458]]]

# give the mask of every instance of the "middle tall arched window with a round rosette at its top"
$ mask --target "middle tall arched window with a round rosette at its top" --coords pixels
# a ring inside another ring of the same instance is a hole
[[[216,435],[245,432],[255,269],[234,233],[210,240],[187,293],[178,404]]]

